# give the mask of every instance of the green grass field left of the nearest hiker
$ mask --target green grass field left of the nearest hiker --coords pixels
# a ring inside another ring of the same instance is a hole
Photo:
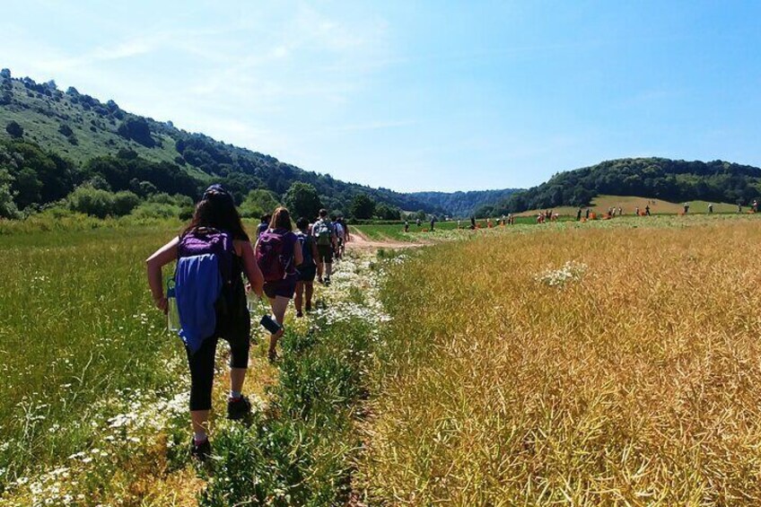
[[[168,237],[164,228],[4,236],[0,490],[90,447],[127,408],[117,393],[178,380],[181,346],[144,274],[144,258]]]

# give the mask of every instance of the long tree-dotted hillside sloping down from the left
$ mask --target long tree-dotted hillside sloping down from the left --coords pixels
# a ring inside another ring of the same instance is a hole
[[[211,181],[230,188],[239,203],[258,190],[253,200],[259,206],[249,207],[252,214],[261,207],[261,192],[270,193],[267,203],[284,202],[294,182],[311,185],[319,205],[334,212],[351,214],[354,200],[366,195],[374,201],[372,213],[378,210],[381,218],[400,210],[444,213],[415,197],[346,183],[188,133],[171,122],[136,116],[72,87],[64,92],[53,81],[36,83],[13,78],[8,69],[0,72],[0,216],[34,212],[77,188],[99,190],[99,198],[105,198],[102,192],[110,192],[111,200],[129,192],[130,202],[171,200],[185,206]]]

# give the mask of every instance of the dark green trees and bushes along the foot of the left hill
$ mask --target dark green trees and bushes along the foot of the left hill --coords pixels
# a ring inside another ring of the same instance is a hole
[[[193,203],[210,183],[222,183],[246,217],[270,213],[287,205],[294,216],[315,217],[320,208],[335,205],[334,214],[364,220],[399,220],[401,210],[357,192],[346,201],[329,202],[310,183],[293,180],[282,194],[255,176],[230,171],[223,177],[199,179],[171,162],[147,161],[129,150],[92,158],[82,166],[38,144],[15,139],[0,141],[0,218],[61,208],[104,218],[139,214],[144,217],[187,219]]]

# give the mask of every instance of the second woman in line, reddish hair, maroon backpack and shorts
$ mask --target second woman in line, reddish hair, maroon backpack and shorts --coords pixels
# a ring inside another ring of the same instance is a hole
[[[264,277],[264,293],[267,295],[272,315],[280,329],[269,336],[267,358],[277,359],[277,340],[283,336],[283,322],[288,303],[296,292],[296,267],[303,263],[302,249],[296,248],[298,238],[293,234],[291,214],[283,206],[276,208],[269,229],[262,232],[254,246],[257,264]]]

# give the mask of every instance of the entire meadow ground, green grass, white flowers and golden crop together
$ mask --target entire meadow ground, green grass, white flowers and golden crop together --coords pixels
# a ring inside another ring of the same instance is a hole
[[[761,502],[754,216],[413,224],[433,246],[350,252],[280,363],[252,349],[247,424],[218,355],[200,468],[144,280],[181,224],[42,215],[0,222],[0,504]]]

